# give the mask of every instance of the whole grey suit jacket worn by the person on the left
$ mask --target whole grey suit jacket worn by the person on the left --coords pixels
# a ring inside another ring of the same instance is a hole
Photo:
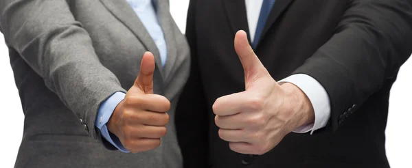
[[[95,128],[100,103],[133,85],[145,51],[155,55],[154,92],[170,100],[174,121],[190,52],[168,0],[157,1],[157,15],[168,47],[163,68],[124,0],[0,1],[0,30],[25,113],[15,167],[182,167],[173,122],[159,148],[139,154],[108,150]]]

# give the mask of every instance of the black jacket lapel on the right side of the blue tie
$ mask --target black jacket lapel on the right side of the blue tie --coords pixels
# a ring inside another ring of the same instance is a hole
[[[264,39],[265,34],[271,29],[272,25],[276,22],[280,15],[286,10],[286,8],[292,3],[294,0],[276,0],[275,5],[271,10],[271,14],[268,16],[268,20],[266,20],[266,25],[262,31],[262,35],[260,41]],[[259,42],[258,42],[259,45]]]

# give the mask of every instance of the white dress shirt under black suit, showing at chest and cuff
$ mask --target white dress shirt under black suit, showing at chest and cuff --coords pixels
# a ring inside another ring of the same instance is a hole
[[[256,27],[258,26],[260,8],[262,8],[263,0],[244,1],[246,4],[249,36],[253,42],[253,39],[255,38]],[[293,74],[291,76],[288,76],[286,79],[282,79],[279,82],[293,83],[294,85],[299,87],[306,94],[306,96],[308,96],[314,109],[314,123],[307,126],[301,126],[301,128],[297,128],[293,132],[305,133],[311,131],[310,134],[312,134],[314,130],[323,128],[326,126],[326,124],[328,124],[330,118],[330,101],[328,93],[321,85],[321,83],[307,74]]]

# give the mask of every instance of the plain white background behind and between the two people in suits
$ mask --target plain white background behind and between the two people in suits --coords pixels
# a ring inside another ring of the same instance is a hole
[[[170,11],[184,32],[189,0],[170,0]],[[412,47],[412,46],[410,46]],[[400,69],[391,90],[387,124],[387,157],[391,167],[412,167],[412,60]],[[23,135],[24,115],[10,68],[8,49],[0,33],[0,167],[13,167]],[[356,151],[354,151],[356,152]]]

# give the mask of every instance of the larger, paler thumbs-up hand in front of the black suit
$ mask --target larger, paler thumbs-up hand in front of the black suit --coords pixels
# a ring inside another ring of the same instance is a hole
[[[235,50],[244,69],[245,91],[218,98],[213,104],[219,137],[241,154],[264,154],[289,132],[314,122],[310,100],[291,83],[279,85],[238,31]]]

